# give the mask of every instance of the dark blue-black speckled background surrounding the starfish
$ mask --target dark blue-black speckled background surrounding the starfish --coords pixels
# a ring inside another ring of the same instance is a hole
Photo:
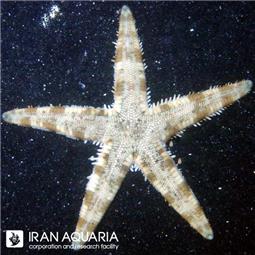
[[[2,3],[2,112],[16,107],[111,104],[113,41],[124,2]],[[129,2],[144,45],[152,101],[241,79],[255,81],[252,2]],[[84,86],[81,84],[85,84]],[[203,239],[140,172],[130,172],[99,224],[115,251],[76,254],[254,254],[253,91],[174,141],[181,169],[214,230]],[[96,146],[2,123],[2,230],[75,229]],[[190,155],[192,154],[192,155]],[[43,252],[40,252],[40,254]],[[63,251],[45,251],[62,254]],[[2,254],[37,254],[5,248]],[[68,251],[65,254],[75,254]]]

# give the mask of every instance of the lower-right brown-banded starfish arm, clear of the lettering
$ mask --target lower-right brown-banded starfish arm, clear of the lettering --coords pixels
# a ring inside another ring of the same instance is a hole
[[[211,226],[194,193],[161,144],[148,146],[136,158],[145,177],[196,231],[213,238]]]

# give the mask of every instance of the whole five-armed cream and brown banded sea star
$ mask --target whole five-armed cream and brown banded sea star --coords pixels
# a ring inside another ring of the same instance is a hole
[[[112,108],[29,107],[5,112],[4,120],[102,144],[86,186],[76,233],[89,235],[94,231],[130,166],[136,164],[169,205],[203,237],[213,239],[203,209],[165,144],[185,128],[200,125],[200,121],[246,95],[252,82],[216,86],[150,105],[142,49],[127,6],[121,9],[114,62]],[[80,248],[84,241],[77,238],[73,243]]]

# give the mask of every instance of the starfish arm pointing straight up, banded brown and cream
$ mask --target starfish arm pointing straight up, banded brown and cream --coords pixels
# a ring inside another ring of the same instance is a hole
[[[120,15],[118,40],[114,60],[114,108],[120,112],[124,107],[147,108],[147,92],[135,20],[130,9],[123,6]],[[130,102],[131,101],[131,102]]]

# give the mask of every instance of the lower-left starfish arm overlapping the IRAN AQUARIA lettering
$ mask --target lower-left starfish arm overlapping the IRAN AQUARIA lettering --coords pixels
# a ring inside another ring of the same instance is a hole
[[[74,249],[86,242],[104,216],[107,208],[114,199],[121,183],[126,176],[131,164],[131,154],[123,144],[104,144],[89,182],[86,186],[86,194],[82,201],[79,220],[75,232]],[[83,240],[82,237],[83,236]]]

